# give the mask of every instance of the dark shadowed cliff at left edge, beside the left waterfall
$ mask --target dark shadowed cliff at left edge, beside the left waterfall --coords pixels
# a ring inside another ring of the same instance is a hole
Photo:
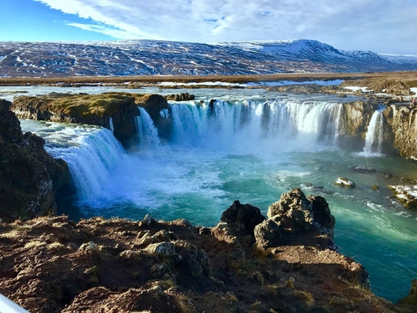
[[[22,134],[10,106],[0,100],[0,218],[55,214],[55,195],[74,193],[67,163],[49,156],[42,138]]]

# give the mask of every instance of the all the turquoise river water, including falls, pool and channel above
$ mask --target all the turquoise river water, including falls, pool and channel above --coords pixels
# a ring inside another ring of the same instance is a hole
[[[26,89],[33,94],[67,91]],[[98,93],[104,88],[72,91]],[[160,141],[152,120],[141,110],[137,124],[142,144],[128,152],[108,129],[21,121],[23,131],[42,136],[48,151],[69,163],[79,197],[79,215],[72,218],[141,219],[150,213],[163,220],[186,218],[213,226],[234,200],[266,214],[281,193],[301,187],[329,202],[339,251],[368,269],[377,295],[395,301],[408,293],[410,281],[417,278],[417,212],[391,198],[386,188],[391,182],[383,176],[350,169],[364,165],[417,177],[416,163],[380,153],[378,115],[370,121],[373,126],[368,128],[375,133],[363,141],[363,151],[350,151],[338,147],[338,136],[343,127],[341,102],[353,97],[218,89],[140,93],[185,91],[197,98],[170,103],[172,140]],[[218,99],[214,114],[208,112],[210,99]],[[337,177],[352,179],[357,188],[334,186]],[[324,188],[308,188],[307,183]],[[373,185],[380,187],[379,192],[372,190]]]

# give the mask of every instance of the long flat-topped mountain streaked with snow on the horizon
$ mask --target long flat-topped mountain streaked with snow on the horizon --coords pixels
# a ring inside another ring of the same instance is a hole
[[[0,42],[0,77],[417,70],[417,56],[343,51],[316,40]]]

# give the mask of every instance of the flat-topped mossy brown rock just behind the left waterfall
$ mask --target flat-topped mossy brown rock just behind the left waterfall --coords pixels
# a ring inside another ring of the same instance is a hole
[[[124,147],[138,143],[135,97],[120,93],[17,97],[11,110],[19,118],[97,125],[113,130]]]

